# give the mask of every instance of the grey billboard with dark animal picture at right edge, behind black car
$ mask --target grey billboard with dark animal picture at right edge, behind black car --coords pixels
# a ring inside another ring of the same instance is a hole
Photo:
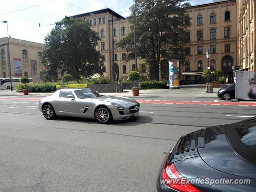
[[[236,98],[256,100],[256,71],[236,72]]]

